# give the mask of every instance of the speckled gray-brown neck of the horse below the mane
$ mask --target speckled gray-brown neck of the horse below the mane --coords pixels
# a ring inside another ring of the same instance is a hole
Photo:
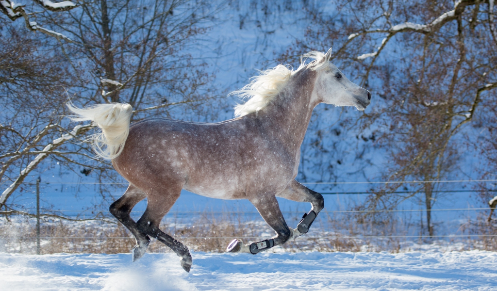
[[[317,105],[311,104],[314,77],[315,72],[303,72],[295,76],[290,86],[278,96],[271,110],[265,112],[273,135],[281,137],[285,144],[295,150],[300,150],[312,111]]]

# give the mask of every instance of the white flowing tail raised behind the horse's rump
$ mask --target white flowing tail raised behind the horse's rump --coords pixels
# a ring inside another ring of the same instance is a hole
[[[121,154],[129,134],[129,123],[133,114],[131,105],[110,103],[77,108],[69,102],[67,107],[76,115],[70,116],[72,120],[91,120],[102,130],[101,133],[96,133],[86,139],[91,143],[97,156],[114,159]]]

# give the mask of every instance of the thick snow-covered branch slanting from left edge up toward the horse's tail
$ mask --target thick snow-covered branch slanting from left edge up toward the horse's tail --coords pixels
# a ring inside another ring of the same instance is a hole
[[[15,179],[15,181],[3,191],[0,196],[0,205],[5,204],[7,198],[15,191],[15,189],[17,189],[17,187],[29,174],[29,172],[34,169],[34,167],[36,167],[36,165],[38,165],[43,159],[45,159],[50,154],[50,151],[52,149],[61,146],[66,141],[69,141],[80,134],[83,134],[92,127],[93,126],[91,124],[77,125],[70,133],[64,134],[60,138],[53,140],[52,143],[46,145],[43,150],[41,150],[41,152],[36,155],[36,157],[19,173],[17,179]]]

